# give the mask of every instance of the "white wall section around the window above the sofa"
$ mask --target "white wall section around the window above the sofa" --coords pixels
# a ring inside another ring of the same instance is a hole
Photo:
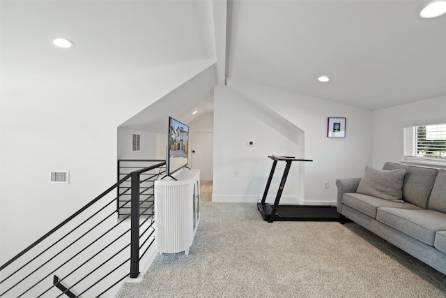
[[[387,161],[401,163],[404,124],[415,125],[436,119],[446,120],[446,96],[374,111],[374,167],[381,168]]]

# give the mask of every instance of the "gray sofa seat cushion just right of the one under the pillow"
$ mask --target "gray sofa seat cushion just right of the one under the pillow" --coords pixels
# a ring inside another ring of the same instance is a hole
[[[433,246],[436,232],[446,230],[446,214],[433,210],[378,208],[376,220]]]

